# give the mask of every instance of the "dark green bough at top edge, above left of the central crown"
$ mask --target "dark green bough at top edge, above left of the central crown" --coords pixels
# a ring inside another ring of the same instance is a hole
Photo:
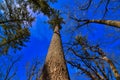
[[[56,2],[57,0],[28,0],[30,8],[34,12],[43,12],[48,17],[51,16],[53,9],[49,6],[49,2]]]

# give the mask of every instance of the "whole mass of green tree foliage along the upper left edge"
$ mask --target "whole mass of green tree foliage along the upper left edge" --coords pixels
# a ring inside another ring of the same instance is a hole
[[[20,50],[29,40],[29,27],[34,18],[26,7],[23,0],[0,3],[0,54],[6,54],[9,49]]]

